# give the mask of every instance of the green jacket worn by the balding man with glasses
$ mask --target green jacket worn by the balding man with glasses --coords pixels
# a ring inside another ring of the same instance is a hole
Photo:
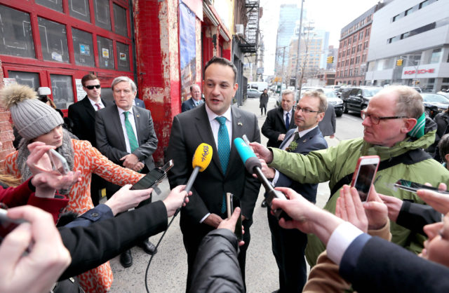
[[[340,142],[336,147],[311,151],[308,155],[288,153],[279,149],[272,149],[274,159],[271,167],[283,172],[288,177],[302,183],[317,183],[329,181],[330,190],[344,176],[354,172],[360,156],[380,156],[380,161],[387,160],[406,153],[410,149],[425,149],[434,142],[435,131],[428,132],[420,139],[410,138],[398,142],[394,147],[382,147],[368,144],[363,139],[350,139]],[[413,165],[398,164],[377,172],[375,178],[375,189],[378,193],[396,198],[413,200],[415,203],[424,203],[415,193],[409,191],[391,189],[398,179],[406,179],[413,182],[429,182],[438,186],[440,182],[448,184],[449,171],[434,159],[427,159]],[[335,212],[335,203],[339,195],[332,196],[326,206],[326,210]],[[406,247],[415,253],[422,250],[424,236],[412,233],[410,230],[391,223],[391,242]],[[306,257],[311,266],[316,264],[316,259],[325,247],[314,235],[309,235]]]

